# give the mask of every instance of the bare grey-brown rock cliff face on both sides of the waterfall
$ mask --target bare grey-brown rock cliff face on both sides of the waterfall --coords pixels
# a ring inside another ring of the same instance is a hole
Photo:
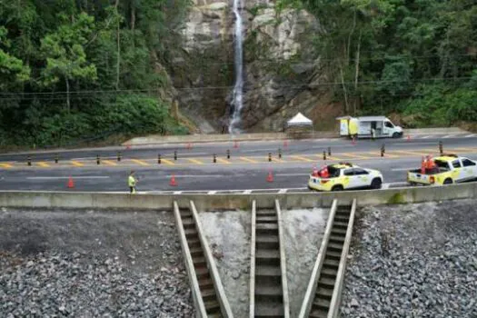
[[[294,114],[318,119],[327,100],[313,50],[319,23],[304,10],[273,2],[243,6],[244,131],[277,131]],[[179,108],[203,133],[220,132],[230,117],[234,85],[233,0],[194,0],[182,30],[183,50],[170,74]]]

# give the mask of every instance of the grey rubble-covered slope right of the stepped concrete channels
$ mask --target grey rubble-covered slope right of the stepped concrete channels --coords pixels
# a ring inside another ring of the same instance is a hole
[[[363,208],[345,317],[477,317],[477,202]]]

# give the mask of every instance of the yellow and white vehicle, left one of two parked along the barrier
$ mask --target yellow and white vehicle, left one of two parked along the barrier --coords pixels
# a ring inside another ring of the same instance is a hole
[[[383,180],[383,174],[377,170],[349,163],[330,164],[310,174],[308,188],[316,191],[381,189]]]

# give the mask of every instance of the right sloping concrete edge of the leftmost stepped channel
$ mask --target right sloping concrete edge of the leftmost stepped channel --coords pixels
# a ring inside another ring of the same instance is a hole
[[[204,249],[205,262],[207,262],[207,267],[211,272],[211,278],[212,282],[214,283],[215,293],[217,293],[217,300],[219,301],[221,312],[222,314],[224,314],[225,318],[233,318],[234,314],[232,313],[229,301],[227,300],[227,296],[225,295],[224,286],[222,284],[222,280],[220,279],[220,274],[217,270],[217,266],[214,262],[214,256],[209,247],[209,243],[205,238],[204,231],[202,230],[201,221],[199,220],[199,214],[197,213],[197,209],[195,209],[194,201],[191,200],[189,203],[191,205],[191,211],[194,217],[195,226],[197,227],[197,233],[199,234],[199,240],[201,241],[202,248]]]

